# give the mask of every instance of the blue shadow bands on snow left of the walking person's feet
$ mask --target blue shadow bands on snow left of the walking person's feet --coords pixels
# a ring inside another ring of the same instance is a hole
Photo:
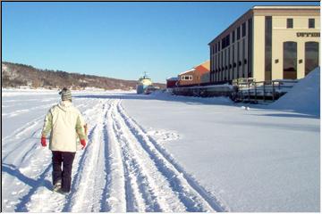
[[[21,173],[21,171],[19,169],[17,169],[13,164],[7,164],[7,163],[2,164],[2,172],[3,173],[7,173],[13,177],[16,177],[22,183],[24,183],[26,185],[30,185],[30,187],[31,187],[29,193],[22,196],[21,202],[16,205],[15,211],[28,211],[27,207],[26,207],[26,203],[30,202],[30,197],[36,192],[38,187],[44,186],[48,190],[51,191],[52,184],[50,183],[50,181],[45,179],[46,174],[49,171],[49,169],[51,169],[51,165],[49,165],[47,167],[47,169],[45,169],[45,171],[36,180],[36,179],[32,179],[30,177],[26,177],[25,175],[23,175]]]

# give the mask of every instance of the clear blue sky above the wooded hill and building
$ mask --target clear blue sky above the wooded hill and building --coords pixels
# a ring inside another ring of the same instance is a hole
[[[307,2],[2,2],[2,60],[154,82],[209,58],[208,43],[254,5]]]

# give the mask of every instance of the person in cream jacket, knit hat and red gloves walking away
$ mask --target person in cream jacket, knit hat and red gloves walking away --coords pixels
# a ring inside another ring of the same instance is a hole
[[[72,184],[72,161],[77,151],[77,137],[82,149],[86,146],[84,120],[80,111],[72,105],[72,93],[66,87],[59,93],[62,101],[48,111],[41,132],[41,145],[46,147],[50,133],[49,149],[53,153],[54,191],[69,193]],[[63,163],[63,170],[62,170]]]

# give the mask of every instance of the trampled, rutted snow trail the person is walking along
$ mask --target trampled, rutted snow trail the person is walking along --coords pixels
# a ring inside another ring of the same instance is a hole
[[[51,152],[39,143],[40,115],[3,138],[2,185],[4,193],[12,194],[5,195],[11,200],[3,199],[4,211],[228,210],[127,115],[121,99],[79,100],[76,106],[89,123],[89,143],[76,154],[72,192],[51,191]],[[39,108],[47,110],[52,101]],[[28,111],[35,110],[11,111],[7,117]]]

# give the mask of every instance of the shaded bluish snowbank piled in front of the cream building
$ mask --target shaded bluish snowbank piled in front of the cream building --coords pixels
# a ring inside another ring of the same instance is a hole
[[[277,110],[296,111],[319,115],[320,113],[320,68],[312,70],[291,91],[270,105]]]

